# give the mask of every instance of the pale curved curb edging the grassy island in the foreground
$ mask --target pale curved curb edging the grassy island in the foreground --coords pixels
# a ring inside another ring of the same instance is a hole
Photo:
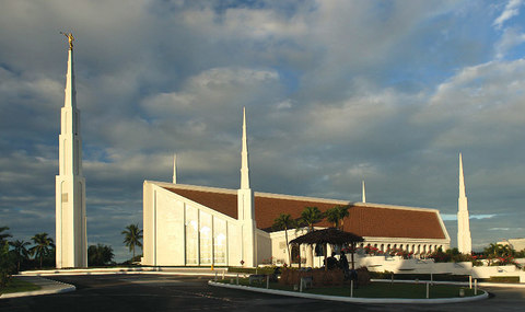
[[[459,303],[459,302],[469,302],[477,301],[489,298],[489,293],[483,291],[482,294],[475,297],[466,298],[436,298],[436,299],[397,299],[397,298],[350,298],[350,297],[339,297],[339,296],[326,296],[326,294],[315,294],[315,293],[305,293],[305,292],[295,292],[295,291],[285,291],[285,290],[275,290],[266,288],[256,288],[242,285],[230,285],[215,281],[208,281],[208,285],[231,289],[248,290],[262,293],[289,296],[289,297],[299,297],[307,299],[317,299],[317,300],[329,300],[329,301],[342,301],[342,302],[353,302],[353,303],[417,303],[417,304],[436,304],[436,303]]]

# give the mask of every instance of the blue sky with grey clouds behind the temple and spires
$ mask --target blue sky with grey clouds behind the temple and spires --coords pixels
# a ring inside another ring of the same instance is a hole
[[[456,245],[525,236],[525,7],[511,1],[27,1],[0,10],[0,226],[55,236],[75,36],[89,244],[130,256],[142,183],[438,208]]]

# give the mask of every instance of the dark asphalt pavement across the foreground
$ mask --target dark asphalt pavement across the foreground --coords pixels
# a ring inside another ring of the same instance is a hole
[[[488,300],[439,305],[352,304],[208,286],[209,277],[173,275],[50,276],[77,291],[0,300],[18,311],[523,311],[525,289],[489,288]]]

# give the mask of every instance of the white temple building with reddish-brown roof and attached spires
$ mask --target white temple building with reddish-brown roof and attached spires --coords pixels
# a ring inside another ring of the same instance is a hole
[[[249,185],[246,114],[243,112],[241,187],[238,189],[143,183],[143,258],[151,266],[247,266],[283,264],[288,259],[284,231],[272,228],[280,213],[296,219],[305,207],[326,211],[348,205],[343,230],[365,239],[361,246],[404,250],[416,256],[450,247],[440,211],[417,207],[361,203],[253,192]],[[174,160],[174,165],[175,165]],[[316,228],[330,224],[323,220]],[[289,240],[305,233],[289,230]],[[306,255],[301,246],[300,254]],[[296,255],[292,251],[292,258]],[[306,257],[319,266],[320,256]]]

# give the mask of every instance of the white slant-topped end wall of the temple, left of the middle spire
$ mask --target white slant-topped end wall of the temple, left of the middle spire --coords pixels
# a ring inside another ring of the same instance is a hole
[[[238,266],[241,238],[240,221],[144,182],[143,265]]]

